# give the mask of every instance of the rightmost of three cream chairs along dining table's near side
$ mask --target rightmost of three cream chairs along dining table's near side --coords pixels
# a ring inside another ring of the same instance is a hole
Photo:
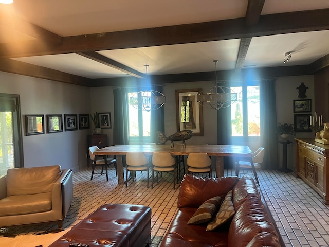
[[[191,173],[209,173],[211,178],[211,158],[207,153],[190,153],[186,159],[187,171]]]

